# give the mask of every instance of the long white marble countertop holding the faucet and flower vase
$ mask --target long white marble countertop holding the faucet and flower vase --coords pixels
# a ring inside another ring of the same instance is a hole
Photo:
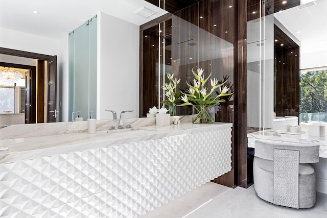
[[[95,134],[85,132],[22,137],[0,140],[0,163],[26,160],[55,154],[64,154],[86,149],[114,146],[168,136],[232,127],[229,123],[192,124],[170,126],[147,126],[122,130],[103,130]]]

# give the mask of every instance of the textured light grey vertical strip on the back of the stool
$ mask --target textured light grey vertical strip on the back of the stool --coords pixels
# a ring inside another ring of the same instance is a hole
[[[274,149],[274,204],[298,209],[299,151]]]

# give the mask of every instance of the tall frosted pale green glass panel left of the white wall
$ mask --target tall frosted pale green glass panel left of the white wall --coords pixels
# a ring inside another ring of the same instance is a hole
[[[68,36],[69,114],[81,111],[86,120],[97,113],[97,17]]]

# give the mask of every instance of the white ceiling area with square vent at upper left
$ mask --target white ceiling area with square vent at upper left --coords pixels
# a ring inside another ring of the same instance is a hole
[[[142,7],[156,13],[148,18],[133,13]],[[59,39],[100,11],[135,25],[167,13],[144,0],[8,0],[0,1],[0,27]]]

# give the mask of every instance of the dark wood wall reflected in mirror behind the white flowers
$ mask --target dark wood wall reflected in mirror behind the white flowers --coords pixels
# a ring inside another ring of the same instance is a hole
[[[197,67],[204,69],[205,77],[212,73],[212,78],[228,80],[231,88],[233,84],[233,4],[223,1],[178,1],[189,5],[173,11],[173,7],[167,7],[171,2],[166,1],[165,4],[165,9],[170,8],[171,14],[141,26],[143,53],[139,113],[143,117],[149,108],[164,106],[161,103],[165,98],[161,86],[167,80],[166,72],[181,79],[177,87],[184,93],[188,88],[186,81],[193,83],[191,70]],[[215,106],[216,121],[232,122],[233,98],[226,100],[225,104]],[[190,114],[191,107],[177,107],[177,115]]]

